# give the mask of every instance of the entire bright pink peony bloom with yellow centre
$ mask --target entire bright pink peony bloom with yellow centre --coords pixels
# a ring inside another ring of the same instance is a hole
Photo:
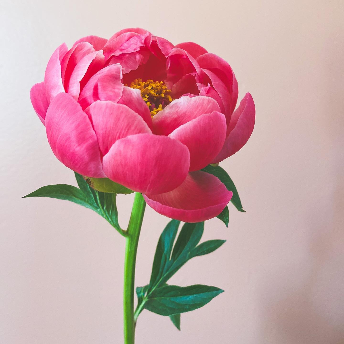
[[[255,122],[249,93],[235,110],[227,62],[143,29],[60,45],[30,97],[63,164],[141,192],[157,212],[185,222],[228,204],[232,192],[200,170],[242,148]]]

